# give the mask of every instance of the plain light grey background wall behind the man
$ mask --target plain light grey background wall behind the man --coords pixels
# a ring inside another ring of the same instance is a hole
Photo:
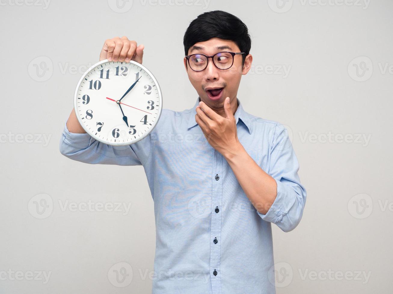
[[[0,292],[151,292],[154,213],[143,167],[69,160],[61,131],[79,78],[114,36],[145,45],[164,108],[192,107],[182,39],[191,20],[216,9],[248,26],[253,68],[238,98],[286,125],[308,192],[295,230],[272,225],[277,293],[391,292],[391,0],[134,0],[127,11],[112,0],[36,1],[0,6]],[[130,210],[72,211],[88,201]],[[34,203],[46,203],[44,214]],[[122,262],[132,281],[115,287],[108,272]]]

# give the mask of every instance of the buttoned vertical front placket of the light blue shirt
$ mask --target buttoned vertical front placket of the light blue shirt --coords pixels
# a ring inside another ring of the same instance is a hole
[[[214,294],[221,293],[220,243],[221,243],[221,203],[222,203],[222,154],[214,149],[212,171],[212,211],[210,234],[210,277]]]

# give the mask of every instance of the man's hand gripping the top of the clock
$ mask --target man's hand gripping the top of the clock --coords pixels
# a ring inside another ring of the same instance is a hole
[[[143,46],[137,46],[135,41],[130,41],[126,36],[115,37],[105,40],[99,60],[108,59],[109,61],[129,62],[134,60],[142,64]]]

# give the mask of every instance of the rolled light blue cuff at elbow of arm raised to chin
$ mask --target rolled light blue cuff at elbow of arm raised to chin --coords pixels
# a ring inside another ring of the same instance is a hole
[[[277,196],[269,208],[266,214],[259,211],[257,213],[265,221],[270,221],[271,223],[277,223],[283,219],[283,216],[287,214],[288,210],[296,201],[296,197],[293,197],[293,193],[288,193],[286,191],[287,187],[285,184],[281,183],[277,179],[274,179],[277,183]],[[293,198],[293,199],[291,199]]]

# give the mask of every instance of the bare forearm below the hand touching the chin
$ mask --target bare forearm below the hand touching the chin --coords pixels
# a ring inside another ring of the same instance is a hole
[[[266,214],[277,196],[274,178],[257,165],[240,142],[235,149],[222,155],[255,209]]]

